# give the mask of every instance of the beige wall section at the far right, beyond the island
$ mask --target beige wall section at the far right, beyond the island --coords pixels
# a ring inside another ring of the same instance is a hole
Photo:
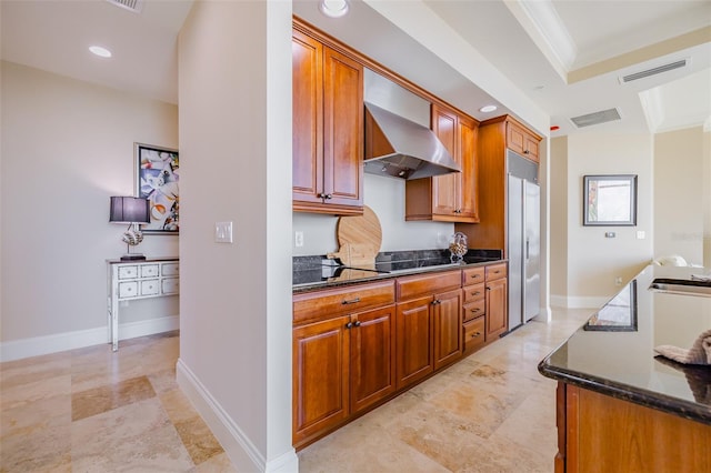
[[[654,256],[678,254],[703,263],[703,130],[701,127],[654,135]]]

